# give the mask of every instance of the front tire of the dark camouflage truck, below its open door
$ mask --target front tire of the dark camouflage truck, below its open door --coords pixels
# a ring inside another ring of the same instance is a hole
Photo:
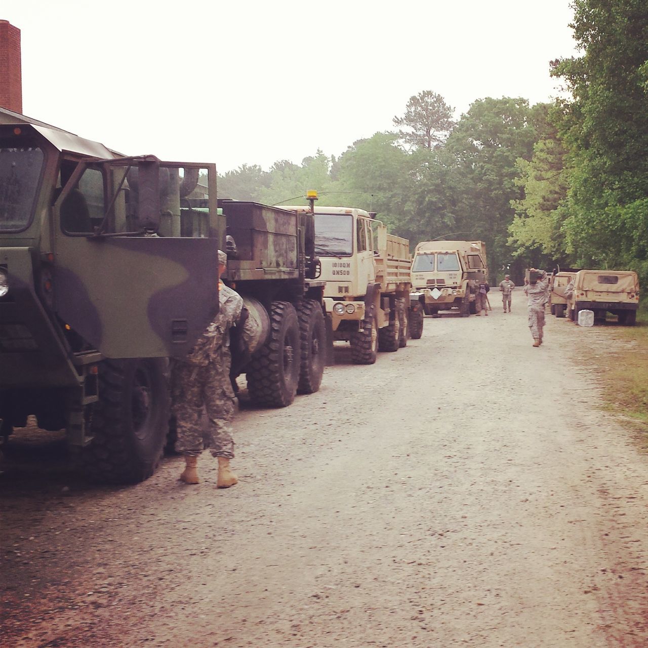
[[[160,358],[103,360],[99,400],[88,408],[91,443],[81,451],[93,481],[136,483],[150,477],[168,432],[168,362]]]

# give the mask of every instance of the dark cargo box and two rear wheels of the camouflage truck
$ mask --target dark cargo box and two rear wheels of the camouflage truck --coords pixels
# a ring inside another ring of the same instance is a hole
[[[328,362],[313,214],[237,200],[218,205],[227,220],[224,279],[256,325],[251,358],[238,371],[255,404],[285,407],[296,393],[318,391]]]

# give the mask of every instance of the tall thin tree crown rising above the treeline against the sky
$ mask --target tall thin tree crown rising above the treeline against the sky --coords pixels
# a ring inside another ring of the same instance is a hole
[[[453,112],[454,108],[450,108],[441,95],[424,90],[410,97],[405,114],[394,117],[393,122],[401,128],[399,137],[404,143],[430,150],[443,142],[452,130]]]

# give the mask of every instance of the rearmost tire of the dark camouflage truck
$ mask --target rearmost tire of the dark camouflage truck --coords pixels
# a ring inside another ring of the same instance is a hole
[[[301,338],[301,366],[297,393],[318,391],[326,365],[326,325],[319,302],[303,299],[297,304],[299,336]]]

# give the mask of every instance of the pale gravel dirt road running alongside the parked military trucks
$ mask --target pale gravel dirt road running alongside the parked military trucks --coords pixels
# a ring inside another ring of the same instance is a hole
[[[319,393],[242,411],[227,491],[211,457],[198,486],[172,457],[91,489],[17,439],[0,642],[648,645],[648,457],[576,362],[605,331],[548,316],[534,349],[514,309],[426,318],[375,366],[342,350]]]

